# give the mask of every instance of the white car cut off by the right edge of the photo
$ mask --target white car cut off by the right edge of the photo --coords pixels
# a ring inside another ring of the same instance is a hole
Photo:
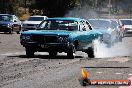
[[[132,34],[132,19],[119,19],[119,25],[123,37],[127,34]]]

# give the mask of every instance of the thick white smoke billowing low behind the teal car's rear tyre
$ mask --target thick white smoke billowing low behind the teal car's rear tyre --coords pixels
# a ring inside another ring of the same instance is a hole
[[[132,50],[128,48],[129,46],[125,42],[115,43],[114,46],[108,48],[106,44],[95,40],[94,47],[96,58],[132,56]]]

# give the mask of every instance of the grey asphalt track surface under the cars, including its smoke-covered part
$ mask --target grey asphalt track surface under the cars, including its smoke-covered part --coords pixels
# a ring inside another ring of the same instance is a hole
[[[128,79],[132,76],[132,37],[125,37],[112,48],[96,44],[96,58],[77,52],[75,59],[65,53],[53,59],[48,53],[27,58],[19,34],[0,33],[0,88],[84,88],[80,85],[81,67],[89,78]],[[125,86],[87,86],[86,88],[132,88]]]

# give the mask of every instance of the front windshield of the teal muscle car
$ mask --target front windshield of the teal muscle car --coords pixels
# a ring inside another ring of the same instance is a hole
[[[78,30],[78,22],[73,20],[45,20],[38,30]]]

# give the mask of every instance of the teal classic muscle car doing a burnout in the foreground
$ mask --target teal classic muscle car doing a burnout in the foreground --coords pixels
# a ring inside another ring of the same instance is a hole
[[[96,38],[101,39],[102,33],[93,30],[86,20],[67,17],[44,20],[38,29],[22,32],[20,42],[28,57],[39,51],[49,52],[51,57],[65,52],[68,58],[74,58],[76,51],[84,51],[93,58]]]

